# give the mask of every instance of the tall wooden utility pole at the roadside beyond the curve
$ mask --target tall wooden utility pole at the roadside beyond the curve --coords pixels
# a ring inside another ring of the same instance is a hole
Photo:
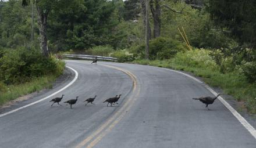
[[[148,34],[148,28],[149,28],[149,23],[148,22],[148,0],[145,0],[145,8],[146,8],[146,23],[145,23],[145,59],[149,59],[149,41],[150,41],[150,35]]]

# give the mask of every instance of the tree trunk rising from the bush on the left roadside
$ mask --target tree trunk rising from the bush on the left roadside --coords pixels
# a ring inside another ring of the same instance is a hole
[[[49,51],[47,48],[47,16],[49,10],[41,10],[37,6],[37,13],[38,13],[38,28],[39,28],[39,42],[40,42],[40,49],[42,55],[45,57],[49,57]]]

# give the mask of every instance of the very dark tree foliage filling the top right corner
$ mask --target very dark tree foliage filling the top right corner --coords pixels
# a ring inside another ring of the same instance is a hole
[[[256,44],[256,1],[212,0],[209,12],[215,24],[230,30],[240,44]]]

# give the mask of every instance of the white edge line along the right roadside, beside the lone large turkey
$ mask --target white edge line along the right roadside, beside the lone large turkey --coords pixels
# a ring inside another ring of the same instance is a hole
[[[160,68],[160,67],[157,67],[157,68]],[[162,68],[162,69],[170,70],[168,68]],[[185,73],[182,73],[182,72],[176,71],[176,70],[170,70],[170,71],[186,75],[187,77],[192,78],[193,80],[199,82],[200,84],[204,84],[204,82],[198,80],[197,78],[195,78],[195,77],[193,77],[189,74],[185,74]],[[206,89],[208,89],[208,91],[210,91],[215,96],[218,94],[214,91],[214,89],[210,88],[208,85],[204,85],[204,87]],[[253,126],[251,126],[251,124],[248,121],[246,121],[246,119],[243,116],[241,116],[241,114],[239,114],[232,106],[230,106],[230,104],[227,103],[226,100],[224,100],[221,96],[219,96],[218,99],[234,115],[234,117],[237,118],[237,120],[244,126],[244,128],[246,128],[251,133],[251,135],[253,135],[253,137],[256,139],[256,130],[255,130],[255,128]]]

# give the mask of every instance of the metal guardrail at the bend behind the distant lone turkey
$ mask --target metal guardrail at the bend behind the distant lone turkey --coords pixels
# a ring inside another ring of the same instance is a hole
[[[80,58],[80,59],[87,59],[93,60],[97,57],[98,60],[108,60],[108,61],[117,61],[118,59],[115,57],[106,57],[106,56],[93,56],[93,55],[63,55],[64,57],[73,57],[73,58]]]

